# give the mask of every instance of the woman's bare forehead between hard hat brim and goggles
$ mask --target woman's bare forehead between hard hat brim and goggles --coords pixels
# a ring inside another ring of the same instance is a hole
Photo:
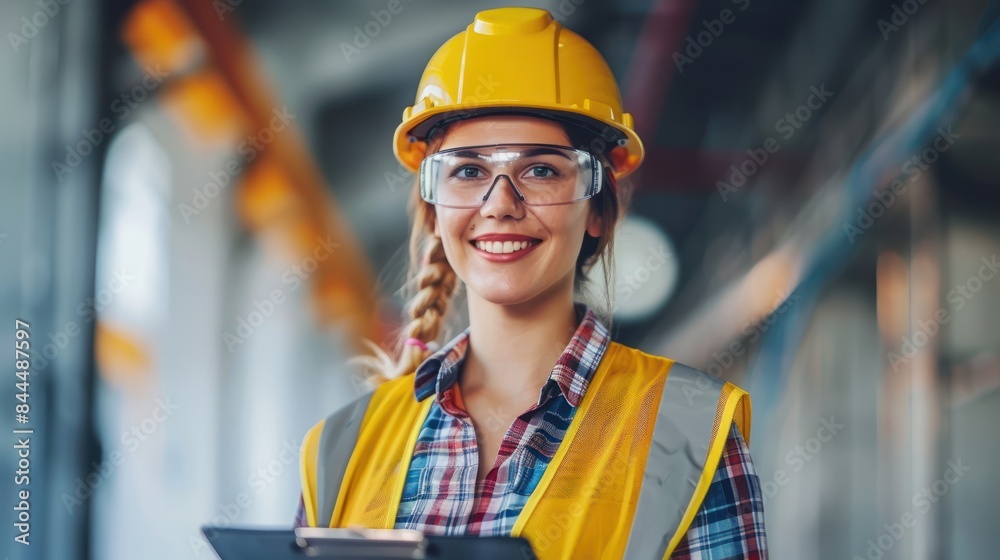
[[[558,123],[521,115],[490,115],[458,121],[448,127],[439,150],[484,144],[558,144],[569,137]]]

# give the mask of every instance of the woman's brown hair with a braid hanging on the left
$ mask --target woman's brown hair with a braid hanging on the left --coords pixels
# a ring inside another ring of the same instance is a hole
[[[601,321],[610,329],[614,309],[614,236],[618,222],[631,204],[631,188],[627,183],[619,183],[611,172],[607,152],[614,147],[605,138],[584,131],[567,123],[560,123],[573,146],[595,154],[604,166],[604,183],[601,192],[589,200],[596,205],[603,219],[600,237],[584,233],[580,254],[576,259],[573,289],[577,294],[585,292],[590,279],[586,273],[598,260],[603,261],[604,287],[607,294],[606,307],[595,309]],[[441,145],[447,127],[434,131],[428,139],[427,153],[433,153]],[[427,359],[433,349],[423,350],[418,346],[405,345],[408,338],[416,338],[424,343],[435,342],[441,334],[442,326],[458,286],[458,276],[444,253],[444,245],[433,235],[436,214],[434,205],[420,198],[419,178],[417,186],[411,189],[408,213],[412,217],[409,241],[409,265],[407,285],[415,286],[415,294],[408,300],[404,316],[407,321],[395,337],[392,353],[370,340],[365,344],[374,355],[357,356],[350,360],[363,367],[372,385],[395,379],[415,371]]]

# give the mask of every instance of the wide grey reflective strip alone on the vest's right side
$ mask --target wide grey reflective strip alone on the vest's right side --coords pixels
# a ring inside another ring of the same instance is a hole
[[[724,385],[721,379],[681,363],[670,368],[625,558],[663,558],[666,554],[675,534],[671,528],[679,528],[704,472]]]

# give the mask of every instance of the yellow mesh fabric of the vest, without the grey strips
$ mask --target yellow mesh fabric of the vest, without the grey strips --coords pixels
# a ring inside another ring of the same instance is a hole
[[[612,343],[594,373],[559,451],[522,511],[512,532],[524,536],[543,559],[621,558],[629,545],[643,486],[664,384],[673,360]],[[702,374],[707,375],[707,374]],[[391,528],[417,432],[431,400],[416,402],[413,375],[378,387],[370,396],[357,441],[339,484],[331,517],[317,519],[317,465],[324,457],[324,422],[303,442],[302,486],[310,525]],[[678,402],[683,403],[683,399]],[[682,406],[682,405],[681,405]],[[670,411],[665,411],[667,414]],[[708,454],[701,476],[692,477],[689,504],[675,527],[662,527],[664,557],[680,540],[705,496],[730,425],[749,439],[749,399],[725,383],[719,392]],[[707,422],[707,418],[706,418]],[[328,447],[328,446],[327,446]],[[669,543],[669,545],[667,544]]]

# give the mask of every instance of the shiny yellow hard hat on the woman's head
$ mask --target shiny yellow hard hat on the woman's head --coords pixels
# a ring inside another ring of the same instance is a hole
[[[446,41],[427,63],[413,106],[403,110],[396,158],[415,172],[435,126],[489,113],[553,118],[592,132],[616,178],[644,156],[604,57],[546,10],[485,10]]]

